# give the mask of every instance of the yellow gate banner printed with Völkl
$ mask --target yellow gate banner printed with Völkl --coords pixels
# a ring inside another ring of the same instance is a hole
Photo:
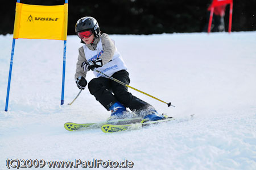
[[[42,6],[16,3],[13,38],[67,40],[68,3]]]

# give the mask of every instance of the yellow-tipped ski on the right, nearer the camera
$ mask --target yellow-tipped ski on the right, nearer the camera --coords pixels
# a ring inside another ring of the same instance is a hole
[[[101,130],[105,133],[137,130],[137,129],[145,127],[145,126],[150,126],[150,125],[154,125],[154,124],[158,124],[158,123],[173,121],[174,119],[175,118],[168,117],[166,119],[162,119],[159,121],[148,121],[148,122],[144,122],[144,123],[131,123],[131,124],[126,124],[126,125],[112,125],[112,124],[108,123],[106,125],[102,125]]]

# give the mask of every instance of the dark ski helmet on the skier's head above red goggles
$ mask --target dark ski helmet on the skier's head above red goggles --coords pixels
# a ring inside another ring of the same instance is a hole
[[[91,16],[85,16],[77,20],[75,26],[76,34],[85,30],[91,30],[95,37],[100,35],[100,26],[98,26],[97,20]]]

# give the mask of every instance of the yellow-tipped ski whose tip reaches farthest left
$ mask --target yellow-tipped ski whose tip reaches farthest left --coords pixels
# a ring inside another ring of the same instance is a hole
[[[123,125],[123,124],[130,124],[130,123],[138,123],[141,122],[142,118],[129,118],[129,119],[119,119],[115,121],[109,122],[98,122],[98,123],[72,123],[67,122],[64,124],[64,127],[68,131],[76,131],[76,130],[86,130],[86,129],[93,129],[93,128],[101,128],[102,125]]]

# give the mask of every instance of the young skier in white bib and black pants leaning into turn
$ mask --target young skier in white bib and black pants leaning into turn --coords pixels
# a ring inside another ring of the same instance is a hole
[[[76,23],[75,31],[81,39],[81,43],[84,43],[79,48],[79,57],[76,64],[75,80],[79,89],[85,89],[87,85],[86,73],[94,69],[125,84],[130,83],[129,73],[122,56],[117,51],[109,35],[101,34],[96,19],[90,16],[79,19]],[[89,82],[88,89],[102,106],[108,111],[112,111],[108,121],[129,117],[131,113],[126,110],[127,107],[135,115],[142,117],[143,122],[165,118],[163,115],[158,114],[150,104],[129,93],[126,86],[118,84],[96,71],[93,71],[93,73],[96,78]]]

